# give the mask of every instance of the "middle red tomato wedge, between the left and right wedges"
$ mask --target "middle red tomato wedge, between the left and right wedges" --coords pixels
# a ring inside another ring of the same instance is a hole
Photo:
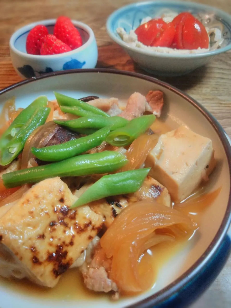
[[[176,30],[172,23],[164,25],[159,35],[153,40],[151,43],[151,46],[157,46],[157,47],[169,47],[171,46],[174,36],[175,36]]]

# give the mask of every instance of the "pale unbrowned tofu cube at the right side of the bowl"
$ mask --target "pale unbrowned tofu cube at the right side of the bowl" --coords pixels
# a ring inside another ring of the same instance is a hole
[[[145,167],[164,185],[173,201],[182,201],[215,167],[212,141],[184,126],[161,135],[149,153]]]

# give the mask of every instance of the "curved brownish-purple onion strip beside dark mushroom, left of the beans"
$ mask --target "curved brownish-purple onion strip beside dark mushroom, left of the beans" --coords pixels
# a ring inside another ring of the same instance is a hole
[[[21,169],[29,168],[28,164],[30,161],[30,167],[35,163],[31,161],[35,156],[31,153],[31,148],[42,148],[50,141],[54,134],[58,131],[59,126],[53,121],[47,122],[46,124],[36,128],[30,136],[27,138],[23,152],[22,152],[22,164]],[[32,162],[32,164],[31,164]]]

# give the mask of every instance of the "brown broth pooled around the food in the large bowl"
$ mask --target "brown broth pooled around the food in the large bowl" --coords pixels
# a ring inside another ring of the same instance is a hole
[[[156,119],[151,129],[157,135],[165,134],[171,130],[165,123]],[[173,205],[175,209],[191,215],[191,218],[200,225],[203,217],[203,211],[216,199],[221,188],[218,188],[212,193],[206,193],[206,188],[199,188],[196,193],[187,198],[184,202],[178,205]],[[196,203],[196,204],[195,204]],[[157,277],[158,270],[173,257],[177,252],[184,248],[187,241],[179,239],[174,242],[164,242],[154,246],[149,253],[145,253],[144,261],[151,262],[154,269],[153,281]],[[107,294],[96,293],[88,290],[83,283],[82,275],[78,269],[69,269],[62,275],[58,284],[54,288],[40,287],[28,281],[27,279],[16,280],[6,279],[0,276],[0,285],[5,288],[14,290],[17,293],[23,293],[26,296],[37,297],[43,299],[55,300],[78,300],[78,299],[94,299],[98,296],[108,298]],[[155,285],[155,283],[154,283]]]

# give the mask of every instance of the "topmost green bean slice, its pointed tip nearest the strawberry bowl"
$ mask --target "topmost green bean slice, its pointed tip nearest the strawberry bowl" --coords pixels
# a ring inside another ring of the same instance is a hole
[[[110,115],[108,115],[106,112],[102,111],[101,109],[96,108],[88,103],[82,102],[79,99],[74,99],[72,97],[69,97],[69,96],[66,96],[66,95],[63,95],[57,92],[54,92],[54,95],[57,99],[59,106],[78,106],[87,111],[91,111],[97,115],[103,115],[106,117],[110,117]]]

